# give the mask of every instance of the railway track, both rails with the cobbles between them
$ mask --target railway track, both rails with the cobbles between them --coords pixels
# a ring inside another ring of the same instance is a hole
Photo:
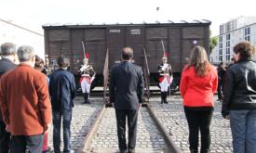
[[[128,135],[128,128],[127,128]],[[90,127],[88,134],[78,149],[80,153],[117,153],[118,140],[116,132],[115,109],[103,106],[98,117]],[[137,153],[180,153],[156,118],[148,104],[142,105],[138,117]]]

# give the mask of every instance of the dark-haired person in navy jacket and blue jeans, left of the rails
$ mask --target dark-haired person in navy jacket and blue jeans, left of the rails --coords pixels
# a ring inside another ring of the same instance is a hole
[[[71,153],[72,109],[74,107],[75,83],[74,75],[67,69],[70,65],[66,57],[58,58],[59,70],[51,74],[49,79],[49,93],[51,96],[53,116],[53,147],[55,153],[61,153],[61,116],[63,120],[63,152]]]

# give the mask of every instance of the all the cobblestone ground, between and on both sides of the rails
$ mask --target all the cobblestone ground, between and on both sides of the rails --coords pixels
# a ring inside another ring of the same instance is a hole
[[[74,115],[72,121],[72,147],[77,149],[83,143],[88,133],[88,128],[94,121],[101,108],[102,98],[92,97],[92,105],[81,105],[82,97],[75,99]],[[168,104],[160,104],[159,97],[152,97],[150,105],[156,116],[164,124],[164,127],[175,141],[182,152],[189,152],[188,127],[182,108],[180,96],[172,96]],[[211,121],[211,151],[212,153],[232,152],[232,138],[229,121],[223,120],[221,115],[221,104],[215,103],[213,120]],[[93,152],[116,152],[117,135],[115,124],[115,111],[107,108],[103,121],[99,126],[98,133],[94,136],[90,149]],[[52,130],[49,134],[49,146],[52,148]],[[162,136],[155,128],[155,124],[149,118],[145,108],[141,109],[138,124],[138,152],[164,152],[166,148]],[[103,149],[102,149],[103,148]]]

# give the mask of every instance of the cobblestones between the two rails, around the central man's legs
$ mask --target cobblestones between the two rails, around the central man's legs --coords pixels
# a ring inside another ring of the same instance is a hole
[[[160,132],[157,130],[155,122],[149,116],[147,108],[141,108],[138,117],[136,152],[162,153],[166,148],[167,147],[165,141]],[[118,152],[114,108],[106,109],[104,117],[99,125],[98,131],[91,141],[90,151],[97,153]]]

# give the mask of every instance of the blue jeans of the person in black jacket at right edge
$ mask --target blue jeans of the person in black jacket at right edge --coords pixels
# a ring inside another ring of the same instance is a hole
[[[255,153],[256,110],[231,110],[230,126],[234,153]]]

